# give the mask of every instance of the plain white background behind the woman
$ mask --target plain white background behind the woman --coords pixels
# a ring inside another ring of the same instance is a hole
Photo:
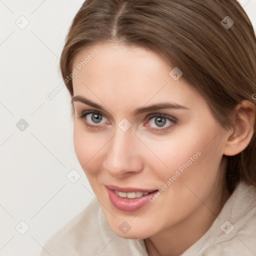
[[[0,0],[2,256],[39,255],[94,196],[73,149],[69,94],[46,98],[62,81],[60,53],[82,2]],[[256,0],[240,3],[256,28]]]

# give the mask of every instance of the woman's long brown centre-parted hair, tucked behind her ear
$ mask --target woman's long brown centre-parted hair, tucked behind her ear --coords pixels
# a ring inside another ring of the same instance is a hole
[[[223,25],[229,19],[226,16],[234,21],[230,28]],[[236,0],[86,0],[62,50],[63,79],[72,72],[80,50],[119,41],[152,50],[170,66],[177,66],[223,127],[230,127],[228,116],[242,99],[256,103],[252,99],[256,93],[256,38]],[[72,96],[72,80],[66,80]],[[229,191],[239,180],[256,185],[255,149],[254,125],[249,145],[228,156]]]

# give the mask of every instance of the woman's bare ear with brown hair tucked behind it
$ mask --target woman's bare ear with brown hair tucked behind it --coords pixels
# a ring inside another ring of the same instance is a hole
[[[249,100],[242,100],[235,106],[231,116],[233,127],[228,134],[223,154],[236,155],[247,147],[254,132],[255,114],[255,104]]]

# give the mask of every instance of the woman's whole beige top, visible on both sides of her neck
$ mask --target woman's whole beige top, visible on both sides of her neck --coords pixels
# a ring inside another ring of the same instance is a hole
[[[148,256],[143,240],[108,226],[96,199],[43,246],[41,256]],[[170,252],[171,255],[171,252]],[[240,182],[208,231],[181,256],[255,256],[256,188]]]

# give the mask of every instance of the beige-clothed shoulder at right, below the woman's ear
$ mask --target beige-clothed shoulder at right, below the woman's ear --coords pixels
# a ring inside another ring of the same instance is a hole
[[[256,255],[256,188],[241,181],[208,231],[182,256]]]

